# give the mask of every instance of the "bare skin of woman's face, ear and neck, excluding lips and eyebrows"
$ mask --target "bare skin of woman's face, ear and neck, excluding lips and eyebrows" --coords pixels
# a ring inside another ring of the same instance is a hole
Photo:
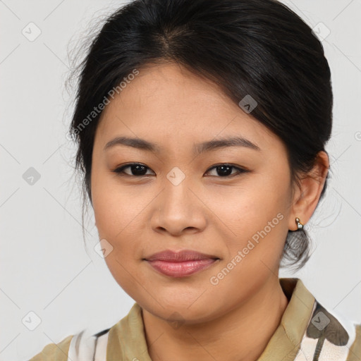
[[[142,307],[152,360],[257,360],[288,305],[279,283],[288,230],[297,229],[296,216],[303,224],[312,216],[329,167],[327,154],[319,153],[298,187],[290,181],[279,137],[212,82],[175,63],[139,71],[104,109],[94,140],[92,205],[99,239],[113,247],[106,264]],[[260,150],[192,153],[196,143],[234,135]],[[104,150],[116,136],[157,143],[159,152],[126,145]],[[147,167],[144,176],[132,176],[130,167],[123,175],[114,172],[135,162]],[[213,168],[222,163],[248,172],[231,169],[222,177]],[[175,166],[185,175],[178,185],[166,177]],[[211,277],[277,214],[283,219],[212,284]],[[167,249],[196,250],[219,260],[173,278],[144,260]]]

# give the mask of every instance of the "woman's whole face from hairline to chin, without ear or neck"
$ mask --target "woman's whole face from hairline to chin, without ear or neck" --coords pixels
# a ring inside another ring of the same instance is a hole
[[[278,275],[292,204],[286,148],[185,68],[139,71],[104,109],[94,140],[92,205],[106,264],[148,312],[214,319]],[[221,142],[233,137],[243,141]],[[166,262],[149,261],[164,250],[212,259],[169,262],[173,274],[164,274],[152,264]]]

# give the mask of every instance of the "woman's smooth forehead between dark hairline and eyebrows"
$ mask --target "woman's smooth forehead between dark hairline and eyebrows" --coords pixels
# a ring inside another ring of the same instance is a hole
[[[266,149],[280,143],[217,85],[183,66],[165,63],[138,71],[102,113],[96,135],[102,144],[116,135],[179,147],[230,135],[247,137]]]

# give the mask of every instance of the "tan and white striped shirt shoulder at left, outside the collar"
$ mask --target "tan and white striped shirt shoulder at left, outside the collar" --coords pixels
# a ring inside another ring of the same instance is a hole
[[[49,343],[30,361],[105,360],[109,331],[110,328],[92,334],[89,329],[83,329],[59,343]]]

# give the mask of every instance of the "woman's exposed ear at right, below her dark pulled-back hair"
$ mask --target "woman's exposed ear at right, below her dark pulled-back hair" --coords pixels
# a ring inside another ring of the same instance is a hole
[[[329,156],[320,151],[314,162],[312,170],[300,177],[300,184],[295,185],[297,189],[293,192],[293,204],[291,205],[288,229],[297,230],[295,218],[298,217],[302,224],[306,224],[319,202],[327,173],[329,172]]]

